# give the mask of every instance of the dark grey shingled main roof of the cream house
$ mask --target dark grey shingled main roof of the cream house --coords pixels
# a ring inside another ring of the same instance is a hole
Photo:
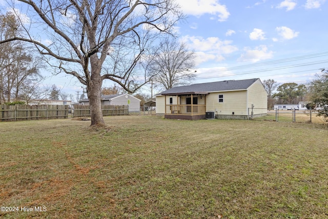
[[[259,78],[244,79],[244,80],[229,80],[221,82],[209,82],[201,84],[193,84],[187,86],[180,86],[168,89],[157,95],[168,95],[177,93],[192,93],[192,92],[215,92],[215,91],[229,91],[229,90],[246,90]]]

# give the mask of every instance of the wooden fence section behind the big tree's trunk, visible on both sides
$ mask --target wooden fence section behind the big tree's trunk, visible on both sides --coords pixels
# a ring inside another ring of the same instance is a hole
[[[101,110],[103,110],[103,116],[106,115],[129,115],[129,106],[114,106],[114,105],[106,105],[101,106]],[[88,105],[75,105],[73,117],[79,116],[90,116],[90,106]]]

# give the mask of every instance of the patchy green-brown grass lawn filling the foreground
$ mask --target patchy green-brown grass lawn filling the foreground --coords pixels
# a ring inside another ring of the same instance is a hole
[[[0,123],[0,217],[328,218],[323,125],[105,121]]]

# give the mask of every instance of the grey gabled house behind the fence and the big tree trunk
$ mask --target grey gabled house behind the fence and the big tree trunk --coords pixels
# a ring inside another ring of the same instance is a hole
[[[140,99],[135,98],[130,94],[110,94],[101,96],[101,105],[127,105],[129,113],[140,112]],[[81,99],[79,105],[89,105],[89,99]]]

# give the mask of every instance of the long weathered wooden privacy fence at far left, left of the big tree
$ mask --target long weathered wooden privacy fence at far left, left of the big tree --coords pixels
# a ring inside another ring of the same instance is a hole
[[[0,121],[68,118],[68,105],[0,105]]]

